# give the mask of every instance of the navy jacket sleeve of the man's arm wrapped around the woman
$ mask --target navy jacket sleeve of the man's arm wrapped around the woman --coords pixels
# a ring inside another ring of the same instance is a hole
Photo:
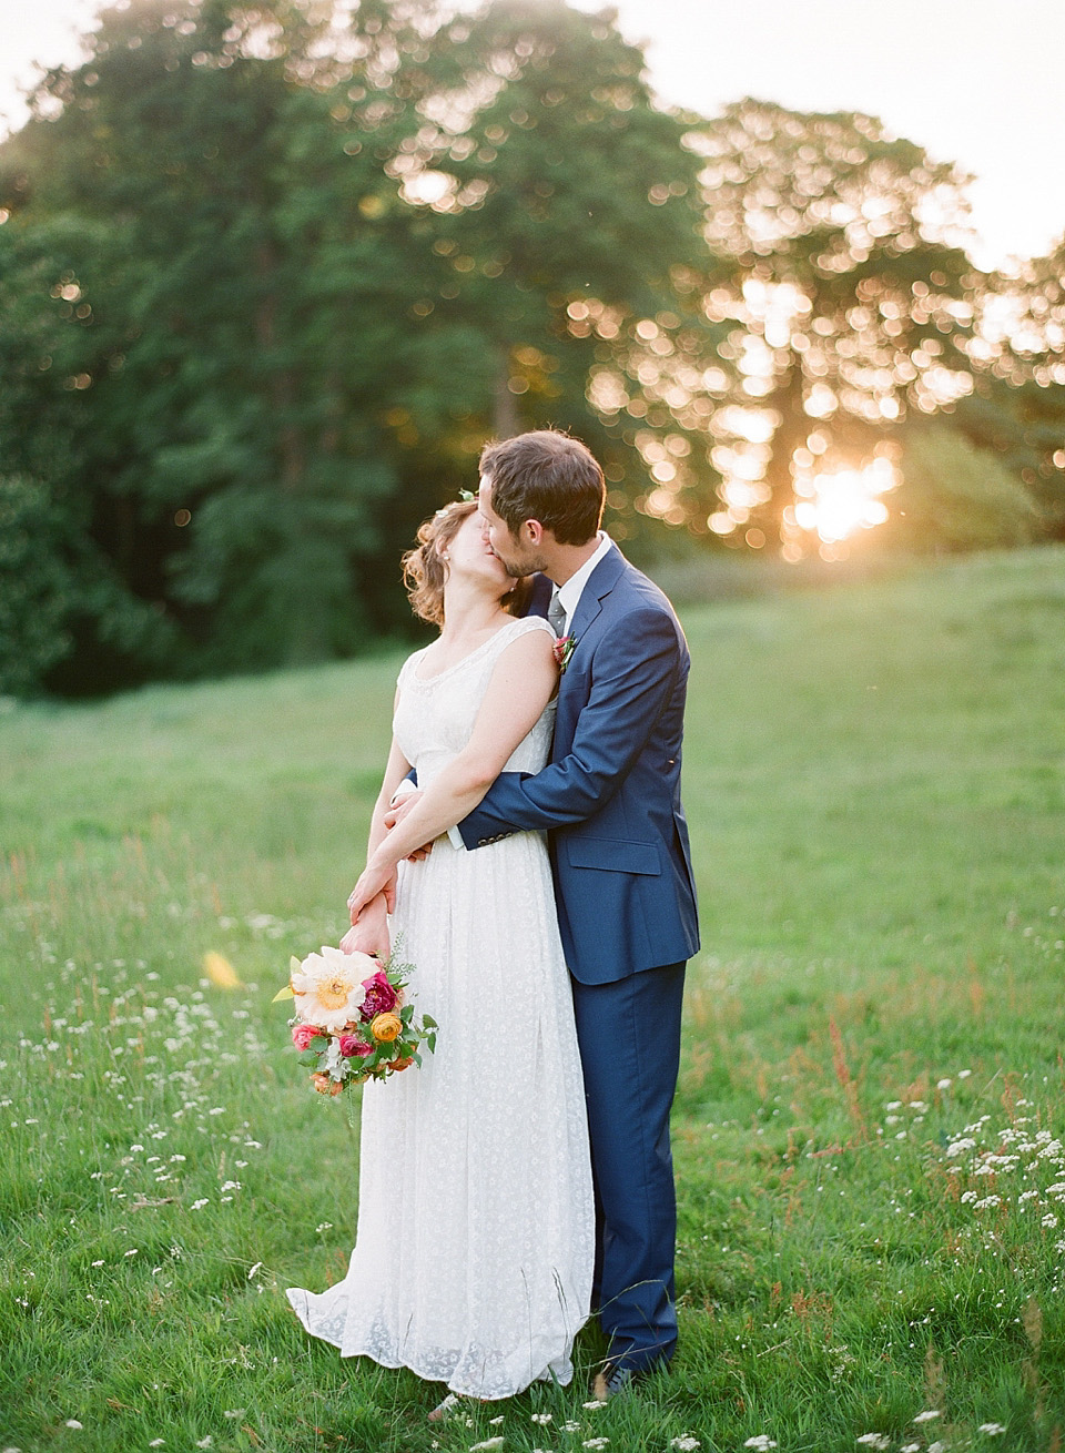
[[[542,772],[504,772],[459,822],[466,847],[506,833],[567,827],[609,802],[680,679],[677,628],[663,610],[629,612],[596,648],[572,747]]]

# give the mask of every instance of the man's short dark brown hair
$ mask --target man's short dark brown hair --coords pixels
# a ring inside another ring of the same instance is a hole
[[[603,471],[587,445],[555,429],[485,445],[481,474],[513,536],[526,520],[539,520],[559,545],[586,545],[603,519]]]

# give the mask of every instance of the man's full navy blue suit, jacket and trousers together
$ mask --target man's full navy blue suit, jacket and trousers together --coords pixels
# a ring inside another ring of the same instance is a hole
[[[503,773],[459,831],[475,849],[549,830],[588,1104],[600,1321],[610,1357],[638,1372],[677,1337],[668,1114],[684,962],[699,947],[680,804],[689,654],[665,596],[616,546],[570,635],[551,763]]]

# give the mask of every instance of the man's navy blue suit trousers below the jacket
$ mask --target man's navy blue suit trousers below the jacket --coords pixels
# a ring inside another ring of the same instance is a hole
[[[610,1360],[633,1372],[668,1360],[677,1345],[670,1107],[684,968],[572,984],[596,1184],[593,1305]]]

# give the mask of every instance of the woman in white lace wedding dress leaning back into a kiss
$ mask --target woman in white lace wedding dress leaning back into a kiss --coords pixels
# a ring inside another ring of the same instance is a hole
[[[400,671],[343,946],[384,956],[389,927],[402,936],[437,1049],[365,1085],[347,1276],[288,1296],[341,1357],[497,1399],[572,1376],[594,1258],[584,1093],[543,835],[466,851],[440,834],[500,772],[548,760],[555,636],[538,616],[507,613],[523,587],[484,541],[475,503],[439,510],[418,541],[404,558],[411,604],[440,635]],[[423,795],[388,831],[411,767]],[[433,840],[429,857],[405,862]]]

